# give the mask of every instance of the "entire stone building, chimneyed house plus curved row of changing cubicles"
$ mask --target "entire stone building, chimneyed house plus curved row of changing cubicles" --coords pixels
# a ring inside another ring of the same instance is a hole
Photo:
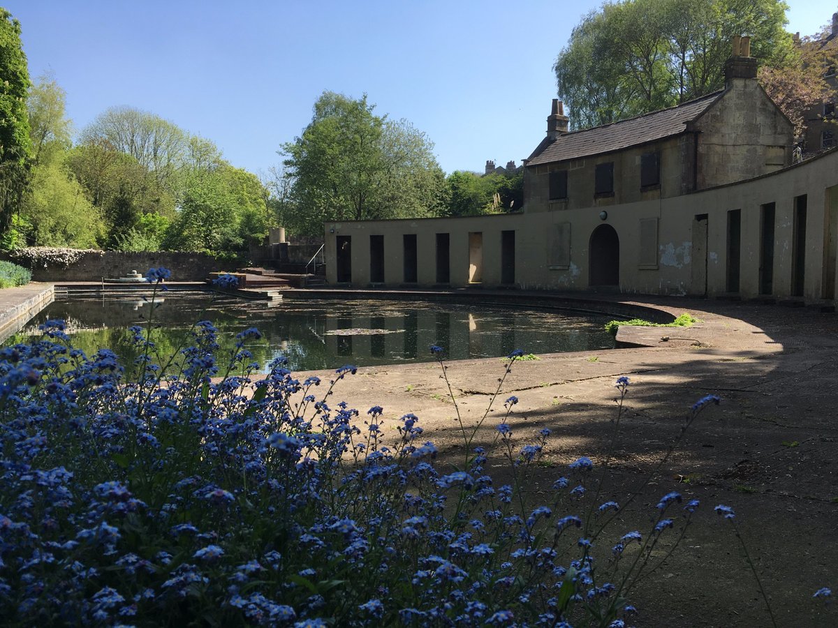
[[[519,213],[327,223],[327,281],[834,300],[838,152],[791,164],[734,50],[724,90],[664,111],[567,132],[554,101]]]

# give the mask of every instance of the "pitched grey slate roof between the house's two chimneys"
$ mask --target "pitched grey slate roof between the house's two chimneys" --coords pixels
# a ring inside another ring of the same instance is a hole
[[[530,155],[527,166],[599,155],[680,135],[686,131],[686,123],[701,116],[722,93],[723,90],[716,91],[682,105],[653,111],[629,120],[594,126],[584,131],[562,133],[552,142],[545,138]]]

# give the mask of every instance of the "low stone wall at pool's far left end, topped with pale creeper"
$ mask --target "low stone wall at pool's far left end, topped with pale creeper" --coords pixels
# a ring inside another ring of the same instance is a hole
[[[15,264],[32,270],[34,281],[101,281],[123,277],[132,270],[145,274],[149,268],[163,266],[172,271],[172,281],[203,281],[213,270],[235,270],[235,262],[216,260],[203,253],[126,253],[122,251],[85,251],[68,266],[28,265],[19,258],[4,256]]]

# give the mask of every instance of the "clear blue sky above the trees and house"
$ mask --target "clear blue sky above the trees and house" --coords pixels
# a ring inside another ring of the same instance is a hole
[[[789,31],[815,33],[838,3],[789,0]],[[323,90],[366,93],[406,118],[446,172],[531,152],[556,97],[551,66],[600,2],[413,0],[7,0],[33,78],[67,92],[79,131],[127,105],[213,140],[266,172]]]

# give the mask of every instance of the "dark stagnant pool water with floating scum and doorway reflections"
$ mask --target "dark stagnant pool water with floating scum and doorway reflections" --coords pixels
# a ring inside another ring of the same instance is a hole
[[[153,322],[153,340],[168,356],[189,346],[194,322],[212,321],[220,330],[220,353],[229,355],[235,334],[256,327],[260,340],[247,348],[261,372],[285,356],[292,370],[431,362],[428,347],[447,350],[448,359],[503,357],[613,348],[603,330],[611,317],[513,307],[422,301],[293,300],[276,305],[229,297],[164,293],[158,306],[139,297],[70,298],[55,301],[7,344],[27,342],[47,319],[67,322],[73,345],[88,355],[101,347],[127,366],[137,357],[128,327]]]

